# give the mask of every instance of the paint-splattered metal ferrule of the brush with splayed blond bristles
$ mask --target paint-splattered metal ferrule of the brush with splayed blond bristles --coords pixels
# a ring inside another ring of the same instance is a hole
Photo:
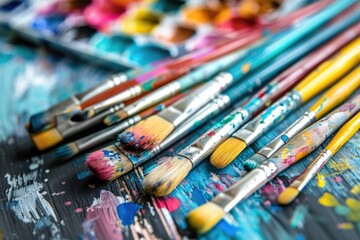
[[[246,109],[236,108],[221,122],[215,124],[189,146],[181,150],[178,155],[189,159],[196,166],[249,118],[250,114]]]

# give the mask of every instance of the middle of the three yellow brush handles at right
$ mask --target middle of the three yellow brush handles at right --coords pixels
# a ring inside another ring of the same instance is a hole
[[[345,101],[360,86],[360,67],[355,68],[341,81],[326,91],[310,108],[316,119],[323,117],[334,107]]]

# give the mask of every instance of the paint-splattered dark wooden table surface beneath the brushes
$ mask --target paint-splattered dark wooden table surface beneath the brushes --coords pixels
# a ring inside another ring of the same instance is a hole
[[[118,207],[119,216],[116,216],[121,220],[119,227],[124,239],[360,239],[359,133],[290,206],[277,205],[276,197],[324,144],[238,204],[206,235],[196,235],[186,224],[185,217],[191,209],[246,174],[242,161],[289,126],[311,103],[292,113],[225,169],[217,170],[204,161],[171,196],[162,199],[143,194],[144,174],[221,116],[138,170],[111,183],[87,176],[85,154],[67,163],[57,163],[50,152],[35,151],[24,129],[28,117],[109,74],[109,70],[0,37],[0,239],[91,237],[84,222],[87,210],[99,199],[101,190],[117,196],[125,210],[119,211]]]

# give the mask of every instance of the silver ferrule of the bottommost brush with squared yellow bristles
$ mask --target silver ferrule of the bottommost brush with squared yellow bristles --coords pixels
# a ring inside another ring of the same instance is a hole
[[[221,206],[225,212],[229,212],[236,204],[270,181],[276,172],[276,165],[266,161],[259,168],[250,171],[234,185],[217,195],[212,202]]]

